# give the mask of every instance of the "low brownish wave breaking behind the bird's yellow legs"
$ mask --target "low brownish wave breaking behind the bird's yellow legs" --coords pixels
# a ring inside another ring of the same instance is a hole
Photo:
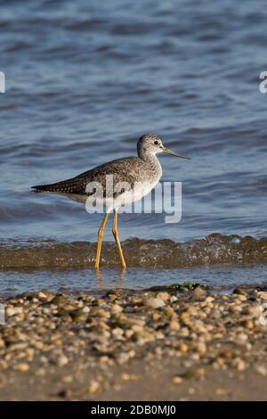
[[[53,269],[93,267],[94,242],[6,242],[0,244],[0,266],[5,269]],[[140,240],[123,242],[129,267],[194,267],[216,264],[267,262],[267,238],[210,234],[190,242]],[[112,242],[103,243],[103,267],[116,267],[118,257]]]

